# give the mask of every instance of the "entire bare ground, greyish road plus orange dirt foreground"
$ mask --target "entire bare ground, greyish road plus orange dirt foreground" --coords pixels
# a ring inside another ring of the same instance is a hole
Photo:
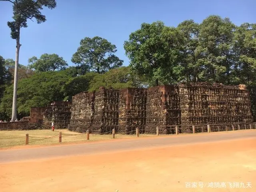
[[[0,158],[1,192],[256,191],[256,130],[2,150]]]

